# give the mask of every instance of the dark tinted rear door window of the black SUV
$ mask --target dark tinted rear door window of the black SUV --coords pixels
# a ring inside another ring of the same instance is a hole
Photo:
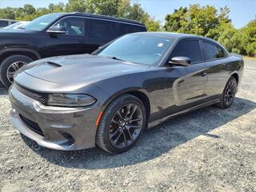
[[[113,37],[112,22],[91,19],[90,36],[93,38],[111,38]]]

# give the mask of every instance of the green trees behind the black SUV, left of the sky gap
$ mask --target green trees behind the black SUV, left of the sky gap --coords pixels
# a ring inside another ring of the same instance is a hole
[[[25,5],[19,8],[6,7],[0,9],[0,18],[31,21],[43,14],[60,12],[86,12],[90,14],[103,14],[119,18],[129,18],[143,22],[149,30],[159,30],[160,23],[151,18],[138,3],[130,0],[69,0],[66,4],[50,3],[48,8],[35,9],[34,6]]]

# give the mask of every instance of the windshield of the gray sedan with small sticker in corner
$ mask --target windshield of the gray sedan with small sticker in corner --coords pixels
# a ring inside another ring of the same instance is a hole
[[[152,65],[162,58],[173,42],[174,39],[172,38],[126,34],[106,46],[98,55],[127,62]]]

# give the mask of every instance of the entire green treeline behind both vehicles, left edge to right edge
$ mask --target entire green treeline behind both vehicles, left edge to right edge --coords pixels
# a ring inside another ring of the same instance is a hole
[[[50,3],[48,7],[38,9],[31,5],[6,7],[0,9],[0,18],[30,21],[56,12],[86,12],[129,18],[144,23],[149,31],[202,35],[221,42],[230,52],[256,56],[256,18],[242,29],[235,29],[228,17],[230,9],[227,6],[220,10],[198,4],[180,7],[173,14],[166,15],[163,28],[139,3],[131,3],[130,0],[69,0],[66,4]]]

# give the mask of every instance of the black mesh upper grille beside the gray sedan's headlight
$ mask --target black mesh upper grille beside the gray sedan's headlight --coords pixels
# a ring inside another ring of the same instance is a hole
[[[18,91],[20,91],[22,94],[25,94],[27,97],[33,98],[34,100],[41,102],[43,105],[47,104],[48,94],[39,93],[38,91],[27,89],[23,86],[19,86],[17,83],[15,84],[15,87]]]

